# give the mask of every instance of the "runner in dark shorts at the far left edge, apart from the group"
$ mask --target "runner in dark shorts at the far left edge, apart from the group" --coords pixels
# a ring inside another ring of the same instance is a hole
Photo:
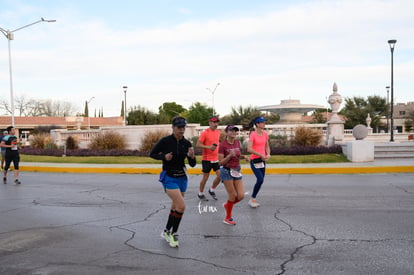
[[[16,130],[13,126],[7,127],[7,132],[9,133],[7,136],[3,137],[3,140],[0,143],[2,148],[6,148],[6,156],[5,156],[5,165],[3,171],[3,183],[7,184],[7,170],[10,168],[11,162],[13,162],[14,167],[14,183],[20,184],[19,180],[19,162],[20,162],[20,155],[19,155],[19,138],[15,135]]]

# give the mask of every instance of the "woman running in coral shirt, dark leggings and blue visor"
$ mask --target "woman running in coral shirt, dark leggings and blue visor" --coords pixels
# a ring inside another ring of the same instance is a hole
[[[256,117],[252,121],[255,130],[250,133],[247,152],[250,155],[250,167],[256,176],[256,184],[253,188],[252,196],[248,202],[250,207],[256,208],[260,204],[256,201],[257,194],[262,187],[266,174],[266,161],[270,158],[269,136],[265,132],[266,119],[262,116]]]

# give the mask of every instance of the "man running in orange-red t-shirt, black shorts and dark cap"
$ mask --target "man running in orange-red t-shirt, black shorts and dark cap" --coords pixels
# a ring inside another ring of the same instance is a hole
[[[213,197],[213,199],[217,200],[215,189],[220,183],[220,167],[218,163],[220,130],[217,129],[219,122],[220,119],[217,116],[212,116],[208,121],[209,127],[201,133],[196,144],[197,148],[203,149],[201,160],[203,177],[201,178],[200,189],[197,195],[200,200],[208,200],[204,195],[204,188],[210,176],[211,170],[216,173],[216,178],[213,180],[211,187],[208,189],[208,193]]]

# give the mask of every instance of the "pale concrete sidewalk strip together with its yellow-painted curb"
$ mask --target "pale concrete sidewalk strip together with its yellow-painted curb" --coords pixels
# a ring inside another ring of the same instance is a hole
[[[82,164],[22,162],[20,171],[55,173],[115,173],[115,174],[158,174],[159,164]],[[364,174],[364,173],[413,173],[414,159],[389,159],[373,162],[341,163],[289,163],[268,164],[266,174]],[[188,168],[189,174],[200,174],[201,164]],[[249,164],[242,165],[242,173],[252,174]]]

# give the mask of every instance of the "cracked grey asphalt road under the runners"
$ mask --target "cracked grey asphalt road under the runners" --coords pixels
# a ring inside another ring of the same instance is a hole
[[[156,175],[22,173],[0,186],[0,274],[414,274],[412,173],[268,175],[236,226],[200,178],[171,248]]]

